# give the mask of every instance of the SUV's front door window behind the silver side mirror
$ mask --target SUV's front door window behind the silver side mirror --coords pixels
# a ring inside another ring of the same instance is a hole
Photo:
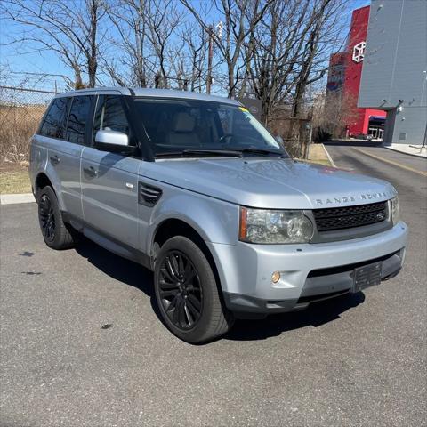
[[[119,96],[100,96],[93,122],[93,141],[100,130],[126,133],[129,136],[129,143],[136,145]]]

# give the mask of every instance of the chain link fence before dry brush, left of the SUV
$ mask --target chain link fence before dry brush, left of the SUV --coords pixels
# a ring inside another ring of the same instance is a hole
[[[54,92],[0,86],[0,162],[28,161],[28,142]]]

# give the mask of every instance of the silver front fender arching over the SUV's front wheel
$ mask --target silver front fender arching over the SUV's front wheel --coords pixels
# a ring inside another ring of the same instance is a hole
[[[186,222],[205,242],[236,245],[238,205],[199,194],[181,193],[161,198],[151,215],[147,247],[151,247],[158,227],[166,220]]]

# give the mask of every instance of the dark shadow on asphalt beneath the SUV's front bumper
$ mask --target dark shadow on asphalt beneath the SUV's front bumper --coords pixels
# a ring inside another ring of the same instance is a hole
[[[306,310],[270,315],[258,320],[237,320],[224,338],[233,341],[265,340],[306,326],[322,326],[365,301],[365,294],[344,294],[327,301],[314,302]]]

